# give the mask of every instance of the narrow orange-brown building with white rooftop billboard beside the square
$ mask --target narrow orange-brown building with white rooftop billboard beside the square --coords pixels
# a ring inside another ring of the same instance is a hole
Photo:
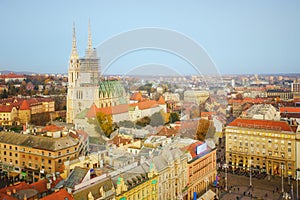
[[[206,186],[216,180],[217,156],[216,148],[210,149],[206,143],[195,142],[184,147],[188,152],[188,198],[192,199],[194,192],[205,191]]]

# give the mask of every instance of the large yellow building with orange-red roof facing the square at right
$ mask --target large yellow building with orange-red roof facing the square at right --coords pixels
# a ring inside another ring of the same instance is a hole
[[[286,121],[238,118],[228,124],[225,137],[229,166],[246,169],[251,163],[260,172],[281,176],[283,164],[282,175],[295,176],[299,144],[295,128]]]

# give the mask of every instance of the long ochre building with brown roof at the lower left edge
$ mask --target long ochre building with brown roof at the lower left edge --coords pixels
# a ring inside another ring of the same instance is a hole
[[[29,182],[63,172],[63,162],[78,157],[80,142],[70,136],[50,138],[0,132],[0,167],[21,173]]]

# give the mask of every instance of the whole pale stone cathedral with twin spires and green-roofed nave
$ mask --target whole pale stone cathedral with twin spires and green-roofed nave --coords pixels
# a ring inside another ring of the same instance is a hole
[[[128,103],[124,87],[118,80],[101,77],[99,57],[92,45],[90,23],[85,56],[79,58],[73,25],[72,52],[68,68],[67,123],[74,123],[76,116],[93,104],[98,108]]]

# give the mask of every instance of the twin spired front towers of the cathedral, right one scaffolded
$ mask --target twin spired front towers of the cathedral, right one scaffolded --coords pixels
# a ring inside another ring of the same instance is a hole
[[[73,27],[72,53],[68,70],[67,123],[74,123],[77,114],[99,101],[99,58],[92,46],[91,25],[88,25],[88,42],[85,56],[79,58]]]

